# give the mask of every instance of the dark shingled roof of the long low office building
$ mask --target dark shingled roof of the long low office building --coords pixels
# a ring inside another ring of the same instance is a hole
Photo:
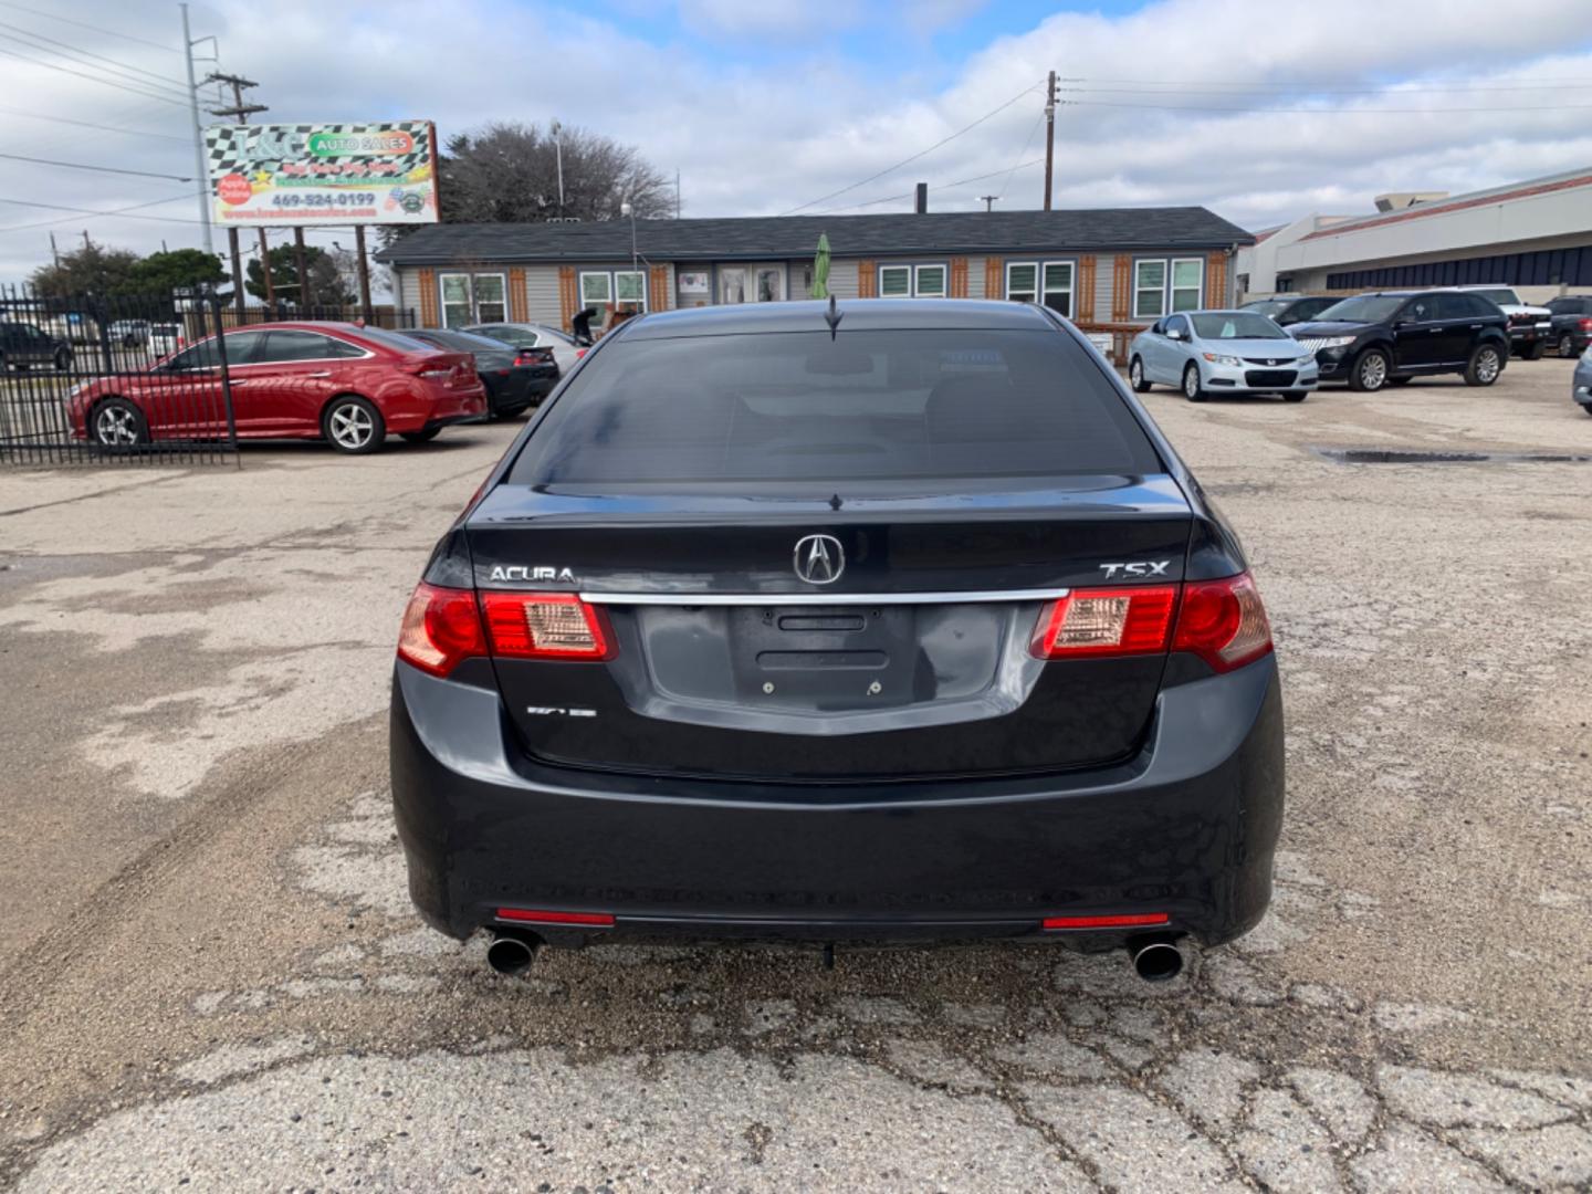
[[[841,258],[1232,248],[1254,240],[1204,207],[1110,207],[637,220],[635,245],[653,261],[778,261],[812,256],[820,232]],[[377,261],[398,266],[629,258],[629,220],[423,224],[376,253]]]

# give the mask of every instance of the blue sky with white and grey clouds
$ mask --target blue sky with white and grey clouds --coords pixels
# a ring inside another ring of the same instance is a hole
[[[1586,0],[1538,0],[1530,19],[1503,11],[1496,0],[194,0],[191,21],[194,38],[215,37],[199,54],[218,49],[201,76],[220,65],[258,80],[264,119],[428,118],[446,139],[559,118],[678,169],[685,215],[903,210],[919,180],[936,210],[985,194],[1003,210],[1038,207],[1054,68],[1059,205],[1204,204],[1264,228],[1363,212],[1387,189],[1592,166]],[[48,259],[51,231],[62,247],[84,229],[137,250],[201,244],[193,185],[180,181],[194,169],[180,45],[166,0],[0,0],[0,282]]]

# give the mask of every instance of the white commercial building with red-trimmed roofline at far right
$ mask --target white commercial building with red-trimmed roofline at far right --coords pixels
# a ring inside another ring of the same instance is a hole
[[[1500,283],[1528,301],[1592,287],[1592,167],[1468,194],[1406,193],[1307,215],[1239,250],[1245,296]]]

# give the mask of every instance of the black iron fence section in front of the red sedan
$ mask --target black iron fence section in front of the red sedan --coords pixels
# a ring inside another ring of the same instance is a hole
[[[213,295],[0,287],[0,465],[236,463]]]

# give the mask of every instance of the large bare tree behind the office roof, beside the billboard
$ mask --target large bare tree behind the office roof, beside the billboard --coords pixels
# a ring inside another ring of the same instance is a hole
[[[642,220],[673,215],[669,180],[635,148],[589,129],[562,131],[565,217],[618,220],[629,202]],[[557,217],[559,162],[552,134],[494,123],[449,139],[439,161],[444,223],[538,223]]]

